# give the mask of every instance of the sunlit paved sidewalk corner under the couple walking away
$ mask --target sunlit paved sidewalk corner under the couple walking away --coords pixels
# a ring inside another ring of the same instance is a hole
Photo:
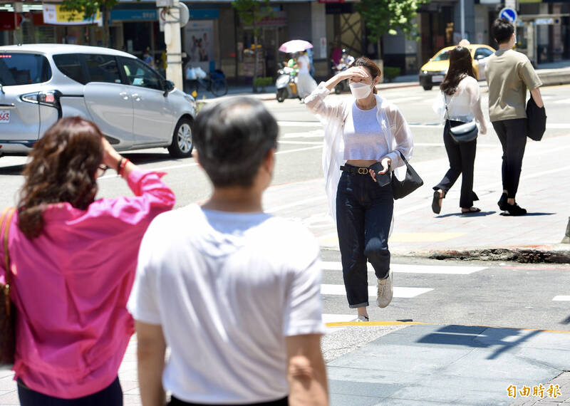
[[[517,194],[517,202],[529,212],[522,217],[504,216],[497,206],[502,193],[502,150],[488,141],[494,136],[478,139],[474,189],[480,198],[475,205],[482,212],[477,214],[461,214],[461,179],[443,200],[442,212],[433,214],[432,187],[447,171],[447,158],[410,162],[424,185],[395,202],[390,237],[394,255],[570,262],[570,244],[559,244],[570,216],[566,201],[570,190],[570,135],[547,136],[541,142],[529,140]],[[264,197],[264,207],[305,224],[323,248],[338,249],[322,178],[271,187]],[[522,258],[517,258],[520,253]],[[558,254],[561,258],[556,258]]]

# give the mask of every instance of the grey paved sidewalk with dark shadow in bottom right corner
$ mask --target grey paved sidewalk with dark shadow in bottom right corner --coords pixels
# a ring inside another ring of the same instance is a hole
[[[555,379],[568,365],[568,333],[418,324],[332,360],[328,380],[332,406],[554,405],[570,401],[566,375]]]

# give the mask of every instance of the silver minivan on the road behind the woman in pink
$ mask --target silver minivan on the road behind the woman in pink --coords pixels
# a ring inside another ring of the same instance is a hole
[[[80,115],[116,150],[192,154],[195,100],[135,56],[94,46],[0,46],[0,155],[25,155],[58,118]]]

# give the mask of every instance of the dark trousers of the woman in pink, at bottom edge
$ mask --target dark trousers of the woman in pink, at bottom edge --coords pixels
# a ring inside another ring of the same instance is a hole
[[[123,406],[123,390],[120,387],[119,378],[93,395],[76,399],[43,395],[43,393],[31,390],[24,385],[24,382],[18,380],[18,397],[21,406]]]

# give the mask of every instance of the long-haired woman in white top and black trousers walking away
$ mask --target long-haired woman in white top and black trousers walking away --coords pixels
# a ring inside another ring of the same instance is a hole
[[[463,214],[477,213],[481,210],[473,207],[479,200],[473,192],[473,167],[477,139],[470,142],[455,142],[450,135],[450,127],[469,123],[475,118],[480,125],[480,133],[487,132],[481,110],[479,83],[473,72],[469,49],[457,46],[450,51],[450,68],[440,85],[440,94],[434,103],[434,110],[445,120],[443,143],[450,160],[450,169],[433,189],[432,210],[440,214],[442,199],[453,186],[459,175],[462,175],[461,197],[459,205]]]

